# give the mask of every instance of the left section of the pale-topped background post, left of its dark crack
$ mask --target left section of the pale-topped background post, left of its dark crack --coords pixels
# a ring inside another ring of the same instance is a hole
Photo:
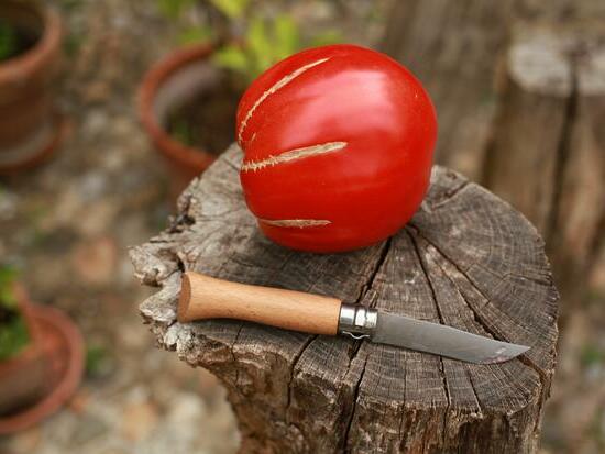
[[[484,182],[549,233],[558,158],[566,150],[574,80],[563,40],[518,36],[507,56],[507,87],[487,156]]]

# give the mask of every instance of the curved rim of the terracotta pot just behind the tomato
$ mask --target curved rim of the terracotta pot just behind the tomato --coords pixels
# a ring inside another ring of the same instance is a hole
[[[160,124],[153,104],[161,87],[170,76],[193,62],[208,59],[213,52],[209,43],[176,49],[147,70],[139,88],[139,117],[155,146],[179,165],[201,170],[217,157],[205,148],[187,146],[173,139]]]

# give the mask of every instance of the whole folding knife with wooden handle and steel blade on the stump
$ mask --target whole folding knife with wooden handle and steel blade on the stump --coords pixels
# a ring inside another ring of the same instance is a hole
[[[187,272],[183,275],[177,320],[187,323],[207,319],[238,319],[311,334],[369,339],[475,364],[502,363],[529,350],[337,298]]]

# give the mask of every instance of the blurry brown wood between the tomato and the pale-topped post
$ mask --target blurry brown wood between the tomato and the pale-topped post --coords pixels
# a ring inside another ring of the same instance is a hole
[[[382,49],[422,81],[439,120],[439,164],[476,180],[496,112],[510,0],[400,0]]]

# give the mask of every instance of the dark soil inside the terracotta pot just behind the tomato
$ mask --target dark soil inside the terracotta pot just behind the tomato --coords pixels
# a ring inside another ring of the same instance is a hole
[[[204,89],[168,114],[166,129],[177,141],[219,155],[235,140],[235,113],[242,91],[230,77]]]

